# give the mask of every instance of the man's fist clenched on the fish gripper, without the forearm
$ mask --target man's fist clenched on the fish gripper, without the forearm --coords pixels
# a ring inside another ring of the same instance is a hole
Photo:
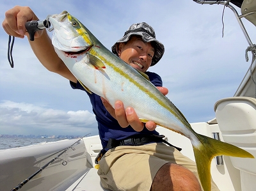
[[[25,24],[30,20],[38,20],[35,13],[28,6],[15,6],[5,12],[5,19],[2,23],[4,31],[18,38],[28,36]],[[41,36],[43,31],[36,31],[35,38]]]

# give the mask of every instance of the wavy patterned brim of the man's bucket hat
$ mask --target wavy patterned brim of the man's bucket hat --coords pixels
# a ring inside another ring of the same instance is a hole
[[[154,42],[154,56],[152,58],[152,63],[150,66],[154,66],[156,65],[156,63],[161,59],[161,57],[163,57],[164,54],[164,45],[159,42],[158,40],[156,40],[156,38],[153,38],[152,36],[150,36],[148,33],[145,33],[143,31],[136,31],[136,32],[132,32],[132,33],[128,33],[125,36],[123,36],[120,40],[118,40],[113,46],[112,46],[112,52],[114,54],[116,54],[116,56],[118,56],[118,52],[116,51],[116,44],[117,43],[121,43],[121,42],[127,42],[132,35],[139,35],[141,36],[142,40],[144,42]]]

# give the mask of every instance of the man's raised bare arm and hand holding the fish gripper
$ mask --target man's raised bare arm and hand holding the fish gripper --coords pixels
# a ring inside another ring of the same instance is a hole
[[[11,36],[18,38],[28,36],[29,38],[25,24],[31,20],[38,20],[38,17],[36,17],[31,8],[28,6],[15,6],[5,12],[5,19],[2,26],[4,31]],[[47,68],[47,70],[58,73],[72,82],[77,82],[76,77],[74,77],[60,57],[56,54],[54,47],[52,46],[51,39],[45,29],[36,31],[35,41],[29,41],[29,43],[36,57],[40,63]]]

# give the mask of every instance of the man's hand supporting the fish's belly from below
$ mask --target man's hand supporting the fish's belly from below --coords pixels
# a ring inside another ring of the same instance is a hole
[[[157,87],[163,95],[168,94],[168,89],[163,87]],[[136,112],[132,107],[127,107],[127,109],[124,109],[124,104],[121,101],[115,102],[115,109],[105,100],[104,98],[101,98],[103,105],[106,107],[108,112],[115,118],[119,125],[122,126],[122,128],[126,128],[127,126],[131,125],[136,132],[141,132],[144,128],[144,123],[140,121],[138,118]],[[146,128],[150,131],[156,129],[156,123],[154,121],[148,121],[146,123]]]

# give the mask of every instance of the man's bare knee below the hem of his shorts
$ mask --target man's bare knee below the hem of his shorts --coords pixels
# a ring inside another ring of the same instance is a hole
[[[195,174],[177,164],[165,164],[157,172],[151,189],[154,190],[201,190]]]

